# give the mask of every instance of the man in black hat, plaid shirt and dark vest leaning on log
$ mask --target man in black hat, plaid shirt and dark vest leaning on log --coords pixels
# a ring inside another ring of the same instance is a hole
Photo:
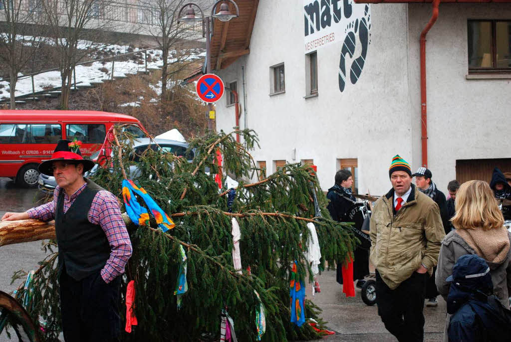
[[[59,249],[62,331],[67,342],[115,341],[120,334],[120,281],[131,241],[119,203],[83,174],[94,162],[82,158],[80,141],[59,140],[39,172],[54,176],[53,201],[2,221],[55,219]]]

